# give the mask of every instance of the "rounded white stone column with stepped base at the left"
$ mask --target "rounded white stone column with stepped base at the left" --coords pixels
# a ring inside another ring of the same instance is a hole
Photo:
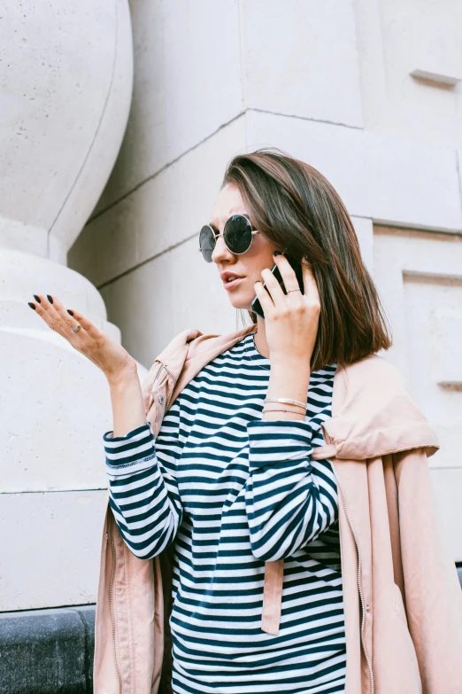
[[[127,0],[2,10],[0,612],[96,597],[108,387],[27,301],[56,294],[120,339],[66,257],[119,152],[133,82]]]

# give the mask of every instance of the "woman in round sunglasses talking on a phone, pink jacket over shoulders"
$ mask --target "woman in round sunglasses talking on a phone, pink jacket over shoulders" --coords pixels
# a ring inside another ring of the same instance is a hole
[[[182,334],[142,388],[81,313],[30,304],[111,388],[96,694],[455,693],[460,590],[425,472],[438,444],[375,355],[391,342],[341,199],[280,152],[237,156],[200,246],[232,305],[257,296],[264,317]]]

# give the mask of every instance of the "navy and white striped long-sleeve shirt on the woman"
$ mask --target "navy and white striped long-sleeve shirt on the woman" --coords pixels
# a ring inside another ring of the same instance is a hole
[[[253,334],[217,356],[166,413],[104,434],[110,503],[137,557],[174,542],[175,694],[343,692],[335,475],[321,423],[336,365],[313,371],[305,421],[262,421],[269,360]],[[261,630],[266,560],[284,559],[281,628]]]

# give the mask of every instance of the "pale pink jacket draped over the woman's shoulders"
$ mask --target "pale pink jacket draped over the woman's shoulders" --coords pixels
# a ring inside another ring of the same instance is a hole
[[[232,347],[228,336],[178,335],[142,385],[158,433],[191,378]],[[323,425],[339,487],[346,694],[461,694],[462,591],[435,518],[427,457],[438,446],[397,369],[371,355],[335,373]],[[112,511],[104,522],[96,604],[95,694],[171,691],[172,549],[138,559]],[[277,634],[283,561],[266,562],[262,629]]]

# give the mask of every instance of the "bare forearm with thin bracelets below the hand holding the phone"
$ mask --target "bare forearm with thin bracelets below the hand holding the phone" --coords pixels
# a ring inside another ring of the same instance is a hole
[[[291,400],[306,402],[309,385],[309,361],[304,361],[302,363],[296,363],[293,360],[288,360],[284,363],[272,362],[266,397],[290,398]],[[283,404],[281,404],[281,409],[284,409]],[[288,407],[287,409],[290,411],[264,412],[262,419],[268,422],[276,421],[278,419],[296,419],[299,421],[304,421],[304,413],[298,412],[295,408],[291,407]]]

